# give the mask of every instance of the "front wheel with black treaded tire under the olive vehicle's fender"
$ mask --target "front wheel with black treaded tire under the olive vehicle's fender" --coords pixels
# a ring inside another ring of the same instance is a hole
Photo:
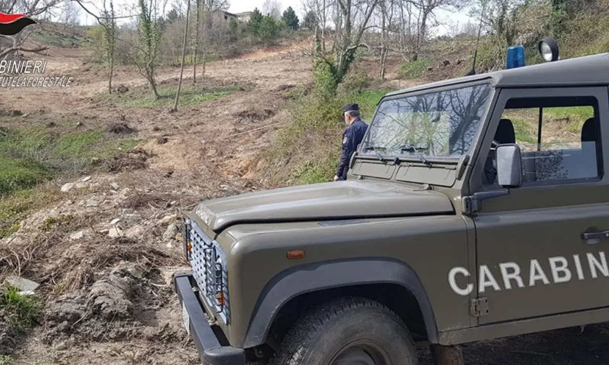
[[[290,328],[272,365],[416,365],[409,331],[393,311],[342,297],[309,311]]]

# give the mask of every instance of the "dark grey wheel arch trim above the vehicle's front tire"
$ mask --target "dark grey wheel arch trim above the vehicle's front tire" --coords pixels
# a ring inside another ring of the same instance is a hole
[[[263,344],[280,311],[301,296],[338,288],[397,285],[416,300],[428,341],[438,343],[434,311],[417,273],[400,260],[378,257],[295,266],[276,274],[258,296],[243,347]]]

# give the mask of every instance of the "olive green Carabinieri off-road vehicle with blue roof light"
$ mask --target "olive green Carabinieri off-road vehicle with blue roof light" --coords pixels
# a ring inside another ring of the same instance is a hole
[[[459,363],[456,344],[609,321],[609,54],[547,42],[547,63],[516,47],[384,96],[347,181],[194,209],[175,289],[204,363],[412,365],[418,343]]]

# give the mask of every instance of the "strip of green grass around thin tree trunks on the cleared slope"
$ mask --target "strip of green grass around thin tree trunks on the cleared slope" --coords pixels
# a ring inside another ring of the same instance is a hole
[[[177,86],[158,86],[159,99],[155,99],[152,96],[152,91],[149,88],[129,90],[124,94],[115,93],[108,95],[107,93],[102,93],[98,97],[109,99],[111,102],[130,108],[171,108],[174,105],[177,89]],[[188,85],[184,81],[180,90],[178,108],[180,106],[216,100],[220,97],[228,96],[238,89],[238,86],[222,86],[202,92],[201,86]]]

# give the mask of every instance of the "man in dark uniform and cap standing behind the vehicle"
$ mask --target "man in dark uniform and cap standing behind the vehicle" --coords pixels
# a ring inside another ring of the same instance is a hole
[[[368,125],[359,117],[359,105],[349,104],[343,108],[347,128],[343,132],[342,153],[340,155],[339,167],[336,169],[334,181],[347,180],[348,164],[351,155],[355,152],[357,145],[362,142]]]

